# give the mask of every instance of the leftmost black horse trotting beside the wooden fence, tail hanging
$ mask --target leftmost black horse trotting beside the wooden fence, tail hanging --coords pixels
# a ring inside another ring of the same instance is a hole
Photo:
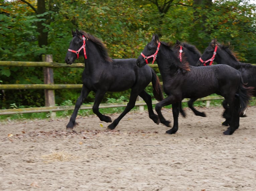
[[[91,91],[96,93],[93,112],[101,121],[112,122],[109,116],[99,112],[99,105],[104,95],[107,91],[121,92],[131,89],[127,106],[120,116],[108,125],[108,129],[114,129],[124,115],[134,107],[138,95],[146,102],[149,117],[159,124],[159,117],[153,112],[151,96],[144,90],[152,82],[154,97],[159,101],[163,99],[161,84],[154,70],[149,66],[137,67],[136,59],[110,59],[101,40],[85,31],[72,31],[72,35],[73,39],[65,61],[67,64],[72,64],[79,56],[83,56],[85,69],[82,74],[82,92],[76,101],[66,130],[71,131],[75,126],[78,110]]]

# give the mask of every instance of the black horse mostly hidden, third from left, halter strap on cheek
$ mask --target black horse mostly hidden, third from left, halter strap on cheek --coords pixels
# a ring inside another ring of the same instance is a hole
[[[181,43],[177,40],[172,50],[176,55],[178,55],[180,62],[182,62],[182,55],[184,55],[186,58],[186,61],[190,64],[190,66],[198,66],[197,63],[199,61],[199,58],[201,57],[201,53],[194,45],[190,45],[186,42]],[[188,107],[195,113],[195,115],[206,117],[206,114],[204,112],[200,112],[193,107],[193,103],[196,100],[197,99],[189,99],[189,101],[187,102]],[[182,110],[181,105],[179,105],[179,112],[182,114],[182,116],[185,117],[185,113]]]

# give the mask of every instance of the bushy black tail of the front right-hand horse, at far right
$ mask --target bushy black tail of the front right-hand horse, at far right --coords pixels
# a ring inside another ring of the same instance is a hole
[[[249,101],[253,95],[254,87],[245,87],[243,79],[241,77],[241,81],[238,88],[238,95],[240,101],[239,113],[244,113]]]

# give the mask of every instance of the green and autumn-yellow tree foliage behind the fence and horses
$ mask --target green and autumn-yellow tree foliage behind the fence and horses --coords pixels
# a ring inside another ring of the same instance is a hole
[[[241,61],[256,63],[256,5],[249,0],[2,0],[0,12],[0,59],[5,61],[41,61],[42,54],[52,54],[54,62],[64,63],[71,29],[82,29],[100,38],[112,58],[137,58],[158,33],[162,41],[186,41],[201,51],[217,38],[234,45]],[[54,82],[81,83],[82,70],[54,69]],[[0,67],[0,81],[40,84],[42,69]],[[75,101],[79,93],[56,91],[56,103]],[[40,91],[0,94],[1,107],[44,105]]]

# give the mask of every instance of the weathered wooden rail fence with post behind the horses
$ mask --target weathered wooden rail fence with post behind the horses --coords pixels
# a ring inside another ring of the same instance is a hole
[[[24,89],[43,89],[45,94],[45,107],[33,108],[18,108],[18,109],[2,109],[0,115],[21,114],[32,112],[50,112],[51,118],[55,117],[55,111],[73,110],[75,106],[55,106],[54,90],[59,89],[82,89],[82,84],[53,84],[53,68],[84,68],[83,63],[72,65],[53,63],[52,56],[46,55],[45,62],[16,62],[16,61],[0,61],[0,66],[6,67],[43,67],[44,68],[44,84],[8,84],[0,85],[0,90],[24,90]],[[152,68],[157,68],[157,64],[150,64]],[[150,83],[150,86],[152,84]],[[213,99],[223,99],[222,96],[207,96],[198,100],[210,101]],[[187,102],[189,99],[183,99],[182,102]],[[156,104],[158,101],[153,101]],[[127,102],[121,103],[102,103],[99,108],[107,107],[123,107]],[[146,105],[144,101],[138,100],[136,106]],[[92,109],[92,104],[81,105],[80,109]]]

